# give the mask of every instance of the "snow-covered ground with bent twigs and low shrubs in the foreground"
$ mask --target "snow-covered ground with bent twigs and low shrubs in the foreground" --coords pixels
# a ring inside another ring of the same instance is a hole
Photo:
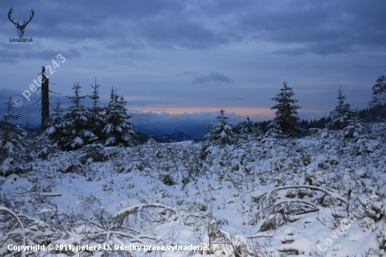
[[[385,127],[371,130],[35,159],[1,178],[0,255],[24,240],[67,247],[25,256],[383,256]]]

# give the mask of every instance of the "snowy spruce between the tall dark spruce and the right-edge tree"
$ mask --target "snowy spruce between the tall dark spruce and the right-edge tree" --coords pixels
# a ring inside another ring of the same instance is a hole
[[[330,112],[331,121],[327,124],[328,129],[344,129],[354,116],[350,104],[345,103],[346,97],[342,92],[342,87],[340,87],[338,90],[338,105],[335,106],[335,110]]]

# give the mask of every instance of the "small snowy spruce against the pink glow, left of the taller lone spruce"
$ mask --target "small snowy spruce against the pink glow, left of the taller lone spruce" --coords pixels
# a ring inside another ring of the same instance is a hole
[[[225,110],[220,110],[220,115],[217,117],[219,124],[208,127],[208,134],[204,137],[206,144],[209,145],[231,145],[234,143],[235,135],[232,131],[232,124],[227,122],[228,117],[225,117]]]

